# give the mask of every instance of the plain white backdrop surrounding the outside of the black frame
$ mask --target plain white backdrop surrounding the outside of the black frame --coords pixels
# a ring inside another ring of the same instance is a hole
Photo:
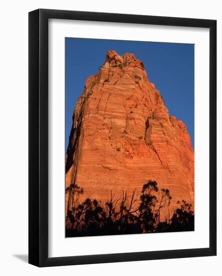
[[[221,91],[222,16],[220,1],[8,1],[1,6],[1,228],[0,251],[3,275],[207,275],[221,273],[221,238],[216,257],[154,260],[112,264],[37,268],[27,264],[28,254],[28,12],[63,9],[110,13],[144,14],[217,20],[217,91]],[[217,93],[221,106],[221,93]],[[218,108],[219,109],[219,108]],[[218,137],[221,140],[221,111],[218,110]],[[202,122],[204,127],[204,121]],[[218,233],[221,233],[221,146],[217,146]]]

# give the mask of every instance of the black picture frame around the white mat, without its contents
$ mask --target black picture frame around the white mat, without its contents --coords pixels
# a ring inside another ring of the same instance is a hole
[[[48,257],[48,20],[209,28],[209,247]],[[216,21],[61,10],[29,13],[29,263],[57,266],[216,255]]]

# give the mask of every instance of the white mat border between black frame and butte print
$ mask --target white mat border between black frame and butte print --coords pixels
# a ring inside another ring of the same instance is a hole
[[[65,37],[195,44],[195,231],[64,238]],[[49,53],[49,256],[209,247],[209,30],[50,20]]]

